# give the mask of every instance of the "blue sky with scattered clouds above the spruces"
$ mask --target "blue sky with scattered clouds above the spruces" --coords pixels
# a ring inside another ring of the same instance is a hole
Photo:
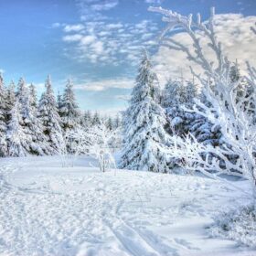
[[[72,78],[81,109],[122,109],[141,48],[159,54],[155,39],[164,25],[161,16],[147,11],[149,5],[185,15],[200,12],[203,18],[213,5],[218,14],[256,15],[255,0],[1,0],[5,82],[23,76],[39,94],[48,74],[55,91]]]

